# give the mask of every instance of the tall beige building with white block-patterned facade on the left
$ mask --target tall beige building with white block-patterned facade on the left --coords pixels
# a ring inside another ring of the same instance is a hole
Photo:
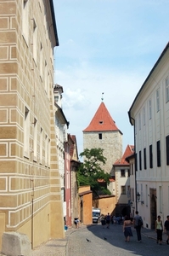
[[[52,0],[1,0],[0,247],[4,231],[31,246],[65,236],[54,128]]]

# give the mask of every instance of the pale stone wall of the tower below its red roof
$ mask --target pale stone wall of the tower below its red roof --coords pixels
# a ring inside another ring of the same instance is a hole
[[[112,165],[122,156],[122,135],[120,131],[102,131],[102,139],[99,139],[99,132],[83,131],[83,148],[103,148],[107,159],[104,172],[113,175]]]

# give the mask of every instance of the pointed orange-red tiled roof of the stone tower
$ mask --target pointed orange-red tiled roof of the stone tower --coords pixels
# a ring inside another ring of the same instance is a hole
[[[109,111],[101,102],[92,121],[83,132],[86,131],[120,131],[115,125],[115,121],[111,118]],[[121,131],[120,131],[121,132]],[[122,133],[121,133],[122,134]]]

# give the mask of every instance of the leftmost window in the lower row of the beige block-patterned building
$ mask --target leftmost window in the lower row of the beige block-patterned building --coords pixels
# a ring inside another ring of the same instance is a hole
[[[24,119],[24,155],[29,157],[30,148],[30,111],[25,107],[25,119]]]

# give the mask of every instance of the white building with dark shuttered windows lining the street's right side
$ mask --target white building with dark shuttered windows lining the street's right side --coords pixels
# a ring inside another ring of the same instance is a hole
[[[128,114],[134,125],[138,212],[144,227],[154,229],[156,217],[164,222],[169,214],[169,44]]]

